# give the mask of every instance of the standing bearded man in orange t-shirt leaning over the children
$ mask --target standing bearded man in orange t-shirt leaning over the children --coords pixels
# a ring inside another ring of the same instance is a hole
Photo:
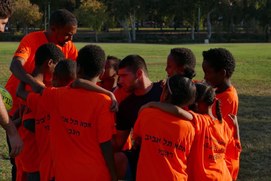
[[[12,75],[9,77],[5,86],[13,99],[13,107],[8,113],[9,116],[13,116],[19,106],[18,98],[15,93],[20,81],[30,85],[33,91],[37,93],[43,88],[43,86],[38,84],[29,74],[32,73],[35,67],[35,52],[40,45],[54,43],[62,50],[66,58],[76,61],[78,50],[71,42],[72,36],[76,33],[76,29],[77,20],[75,16],[65,9],[60,9],[51,15],[49,31],[33,32],[21,40],[10,64],[9,69]],[[44,83],[47,85],[46,82]]]

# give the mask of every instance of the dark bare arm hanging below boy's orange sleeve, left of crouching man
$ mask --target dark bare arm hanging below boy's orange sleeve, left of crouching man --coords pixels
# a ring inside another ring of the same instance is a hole
[[[112,177],[111,180],[115,181],[118,180],[111,140],[100,143],[100,147],[102,150],[102,155],[104,157],[105,163],[107,164],[109,173],[111,174]]]

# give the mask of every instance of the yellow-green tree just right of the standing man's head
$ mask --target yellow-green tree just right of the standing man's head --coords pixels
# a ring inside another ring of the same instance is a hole
[[[81,0],[81,3],[74,13],[83,24],[94,29],[96,42],[98,42],[97,35],[101,32],[103,22],[107,19],[105,12],[107,6],[96,0]]]

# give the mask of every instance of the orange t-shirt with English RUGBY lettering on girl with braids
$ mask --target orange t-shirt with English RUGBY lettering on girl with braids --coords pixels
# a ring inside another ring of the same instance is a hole
[[[232,180],[225,158],[238,159],[240,141],[233,138],[224,120],[220,123],[208,114],[189,113],[193,115],[196,136],[188,157],[188,180]]]

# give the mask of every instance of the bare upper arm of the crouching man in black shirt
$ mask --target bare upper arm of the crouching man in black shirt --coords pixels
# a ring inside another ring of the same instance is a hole
[[[128,130],[117,130],[117,133],[112,135],[112,145],[114,153],[120,152],[126,143],[128,136],[130,135],[131,129]]]

